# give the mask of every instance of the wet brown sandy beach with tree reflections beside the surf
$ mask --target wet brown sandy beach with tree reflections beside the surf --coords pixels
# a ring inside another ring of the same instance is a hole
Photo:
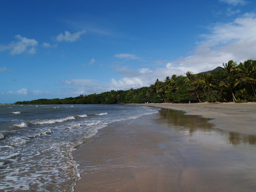
[[[147,104],[73,151],[75,191],[253,191],[256,103]]]

